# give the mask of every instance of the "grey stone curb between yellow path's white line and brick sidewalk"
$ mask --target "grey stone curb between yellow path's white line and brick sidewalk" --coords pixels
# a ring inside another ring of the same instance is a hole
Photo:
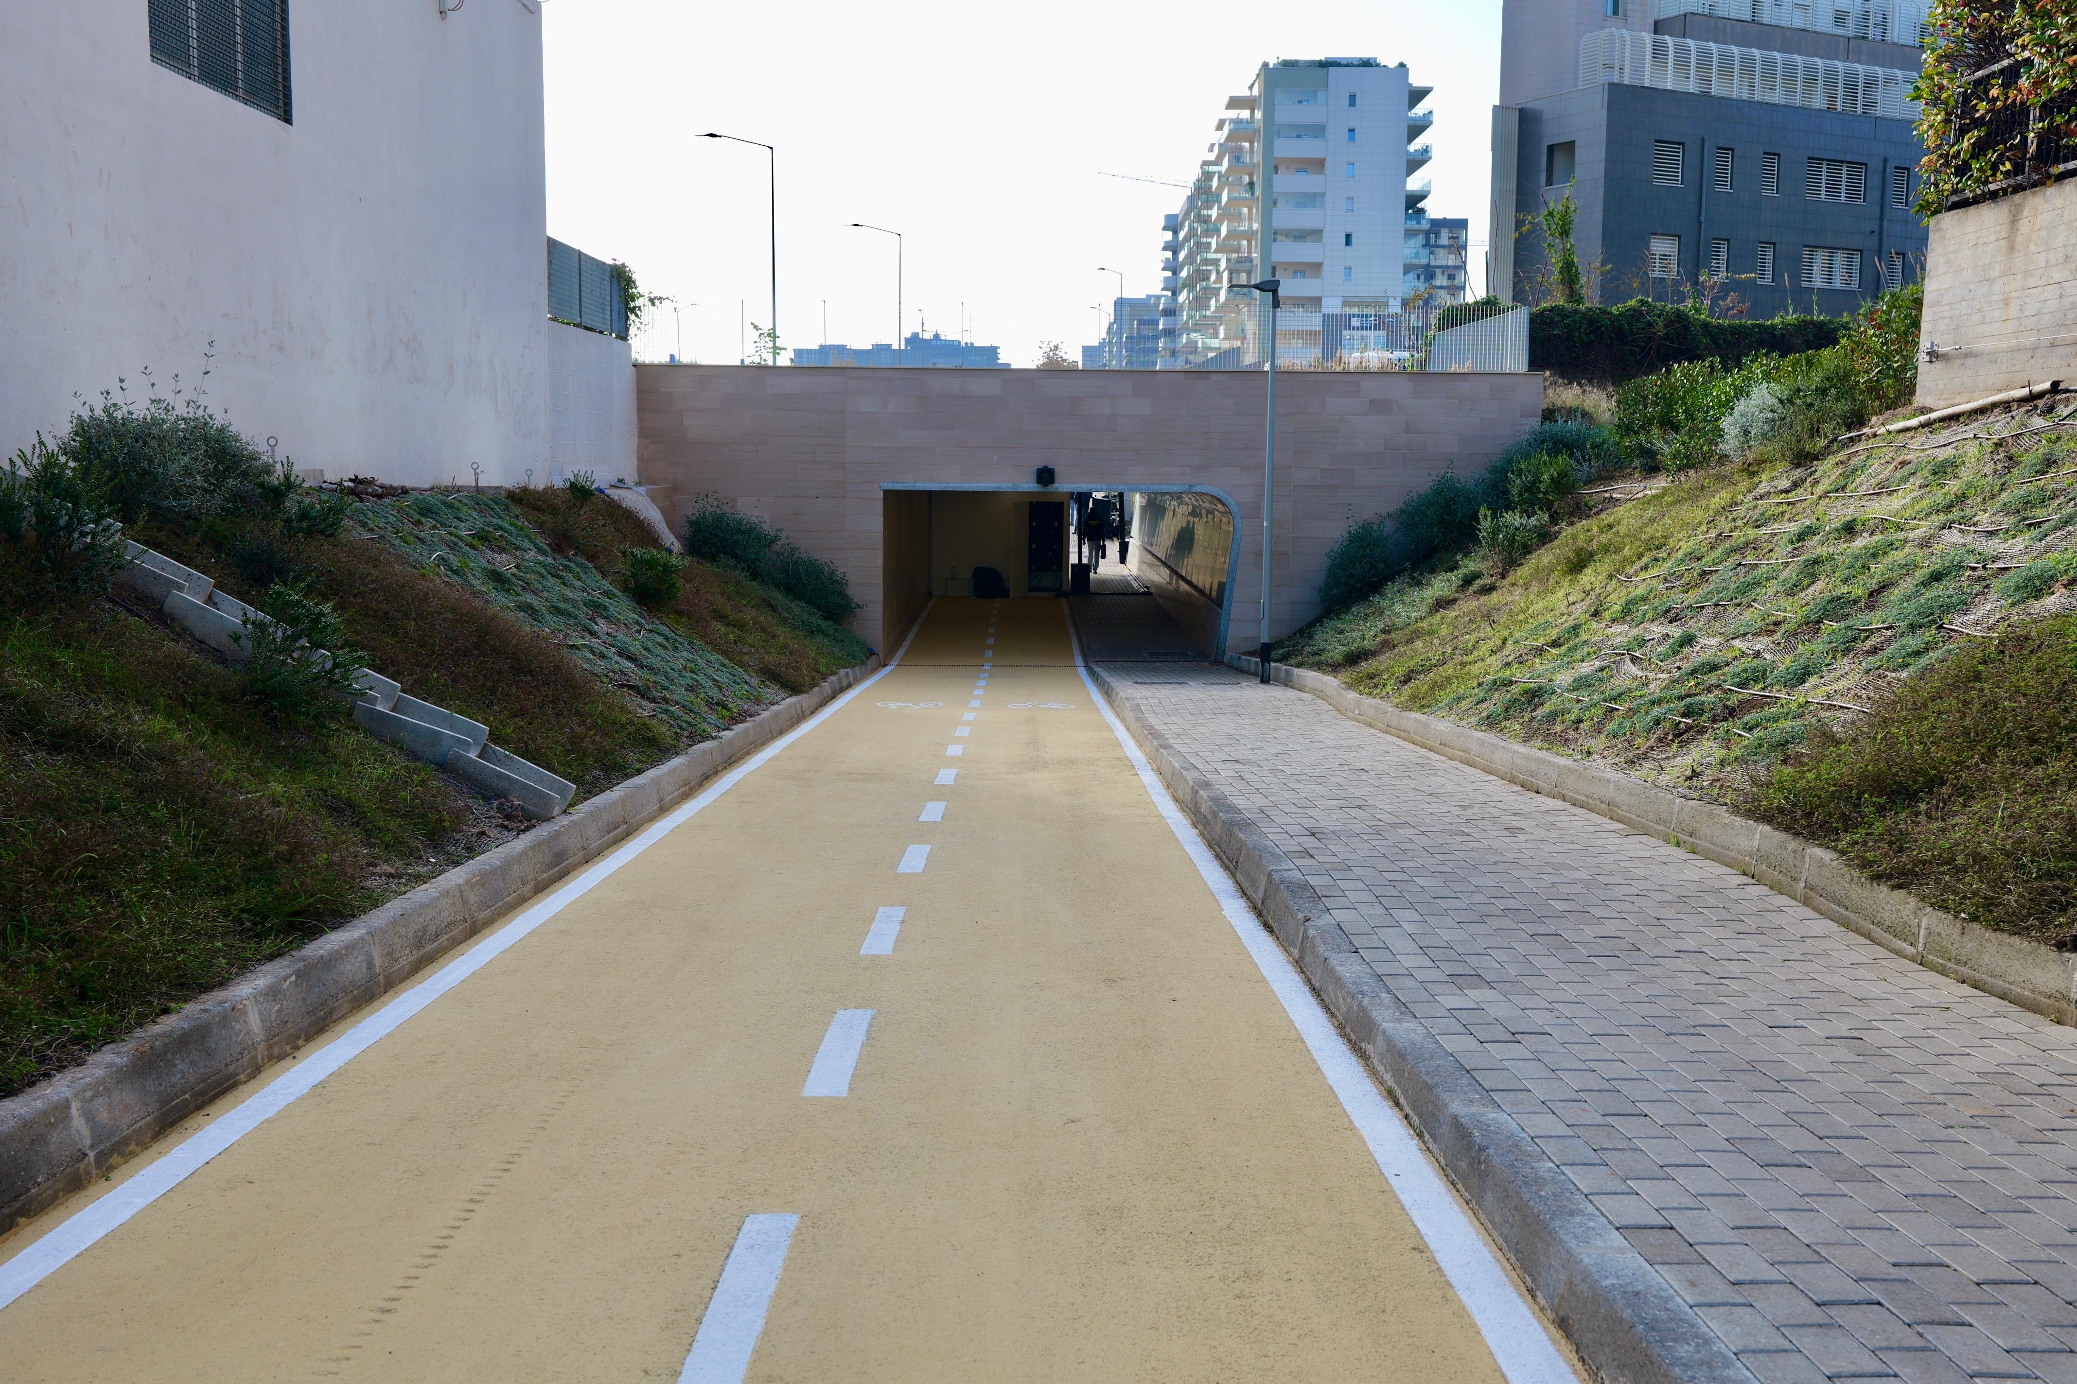
[[[1140,718],[1130,685],[1103,666],[1090,672],[1176,803],[1595,1374],[1624,1384],[1753,1384],[1695,1309],[1400,1004],[1290,857]]]

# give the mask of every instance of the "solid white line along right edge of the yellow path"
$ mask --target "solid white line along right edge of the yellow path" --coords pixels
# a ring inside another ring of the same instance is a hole
[[[1061,614],[1066,616],[1068,612],[1061,610]],[[1284,952],[1284,946],[1255,917],[1255,909],[1248,907],[1240,886],[1234,884],[1234,878],[1219,863],[1211,847],[1205,845],[1205,838],[1196,834],[1190,818],[1169,797],[1169,791],[1161,784],[1161,776],[1155,774],[1124,722],[1111,712],[1109,701],[1097,689],[1095,679],[1088,676],[1088,666],[1082,662],[1082,645],[1074,637],[1072,618],[1068,620],[1068,643],[1074,649],[1074,666],[1082,674],[1082,685],[1088,687],[1090,699],[1097,703],[1103,720],[1109,722],[1111,735],[1124,747],[1126,757],[1140,776],[1140,784],[1153,797],[1169,830],[1176,832],[1176,840],[1190,855],[1198,876],[1211,886],[1213,898],[1219,901],[1219,911],[1234,925],[1240,944],[1248,948],[1248,957],[1255,959],[1263,979],[1269,981],[1269,988],[1282,1000],[1284,1013],[1290,1015],[1298,1037],[1304,1040],[1321,1075],[1327,1077],[1327,1085],[1333,1087],[1342,1110],[1348,1112],[1363,1141],[1371,1145],[1377,1170],[1392,1183],[1392,1191],[1398,1195],[1400,1206],[1406,1208],[1406,1216],[1414,1222],[1421,1239],[1427,1241],[1429,1251],[1433,1251],[1435,1264],[1450,1280],[1450,1286],[1456,1289],[1471,1320],[1477,1322],[1479,1334],[1485,1336],[1485,1345],[1493,1353],[1500,1372],[1508,1378],[1508,1384],[1579,1384],[1572,1365],[1552,1345],[1541,1318],[1522,1301],[1514,1280],[1508,1278],[1508,1272],[1487,1247],[1485,1237],[1471,1222],[1471,1214],[1458,1203],[1456,1193],[1444,1183],[1433,1164],[1429,1164],[1414,1131],[1379,1094],[1371,1081],[1371,1073],[1342,1040],[1319,996],[1313,994],[1313,986],[1306,984],[1298,967]]]

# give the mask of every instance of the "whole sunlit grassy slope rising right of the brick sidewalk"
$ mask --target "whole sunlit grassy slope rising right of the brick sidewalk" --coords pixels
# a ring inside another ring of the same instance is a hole
[[[1813,753],[1836,753],[1871,720],[1822,701],[1880,722],[1900,714],[1892,697],[1913,674],[1979,643],[1957,627],[2077,608],[2077,477],[2056,475],[2077,467],[2077,427],[2052,421],[2015,411],[1797,471],[1689,473],[1579,519],[1512,573],[1471,556],[1404,579],[1284,656],[1412,710],[1786,820],[1753,797],[1772,766],[1813,737]],[[1761,691],[1780,699],[1751,695]],[[1950,714],[1944,732],[1965,739],[1969,716]],[[1957,824],[1992,791],[1990,776],[1975,780],[1969,803],[1950,793],[1940,809]],[[1882,832],[1863,828],[1884,811],[1826,818],[1805,803],[1797,822],[1886,880],[1975,901],[1981,919],[2065,925],[2042,890],[1994,901],[1961,884],[1992,857],[1940,857],[1938,826],[1911,851],[1873,849]]]

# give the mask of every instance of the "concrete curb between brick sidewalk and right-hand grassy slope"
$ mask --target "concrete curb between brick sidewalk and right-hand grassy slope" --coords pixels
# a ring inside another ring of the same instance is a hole
[[[1252,658],[1234,656],[1228,662],[1257,674]],[[2044,1019],[2077,1025],[2077,954],[1942,913],[1911,894],[1876,884],[1834,851],[1747,822],[1714,803],[1684,799],[1628,774],[1576,764],[1485,730],[1402,712],[1309,668],[1271,664],[1269,676],[1313,693],[1375,730],[1730,865],[1927,971],[2031,1008]]]

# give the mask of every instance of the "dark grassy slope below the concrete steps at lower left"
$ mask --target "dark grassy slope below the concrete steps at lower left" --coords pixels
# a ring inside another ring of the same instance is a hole
[[[428,766],[0,566],[0,1096],[370,907],[378,861],[465,815]]]

